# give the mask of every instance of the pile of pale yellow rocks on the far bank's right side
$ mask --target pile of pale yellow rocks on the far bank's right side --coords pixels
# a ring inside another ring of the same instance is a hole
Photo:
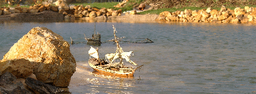
[[[164,11],[159,14],[157,19],[205,23],[256,23],[256,8],[246,6],[245,9],[235,8],[234,10],[222,7],[220,11],[211,8],[195,11],[185,9],[185,11],[175,11],[173,13]]]

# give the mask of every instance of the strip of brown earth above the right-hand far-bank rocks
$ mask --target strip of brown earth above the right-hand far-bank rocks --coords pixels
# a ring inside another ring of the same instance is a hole
[[[221,6],[248,6],[255,5],[256,1],[246,0],[145,0],[143,4],[154,4],[159,8],[183,8],[186,6],[194,7],[221,7]]]

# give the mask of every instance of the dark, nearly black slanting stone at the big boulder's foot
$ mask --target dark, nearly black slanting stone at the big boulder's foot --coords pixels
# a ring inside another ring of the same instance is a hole
[[[42,81],[26,78],[25,83],[34,93],[61,93],[63,90],[59,87],[48,85]]]

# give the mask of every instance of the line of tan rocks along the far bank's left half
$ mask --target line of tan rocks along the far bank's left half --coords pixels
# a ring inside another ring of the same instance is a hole
[[[82,17],[90,17],[95,18],[97,16],[120,16],[122,10],[119,9],[115,11],[114,9],[106,9],[106,8],[92,8],[89,5],[68,5],[63,0],[56,1],[54,4],[56,6],[51,6],[51,4],[36,4],[34,6],[30,6],[30,8],[21,8],[17,6],[15,8],[0,8],[0,15],[6,15],[11,13],[40,13],[42,11],[55,11],[59,14],[63,14],[64,18],[82,18]]]

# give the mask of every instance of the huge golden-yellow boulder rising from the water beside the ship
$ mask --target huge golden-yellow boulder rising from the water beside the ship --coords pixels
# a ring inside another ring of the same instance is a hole
[[[37,80],[66,87],[75,73],[76,61],[70,44],[44,27],[31,29],[4,55],[3,60],[25,58],[32,61]]]

